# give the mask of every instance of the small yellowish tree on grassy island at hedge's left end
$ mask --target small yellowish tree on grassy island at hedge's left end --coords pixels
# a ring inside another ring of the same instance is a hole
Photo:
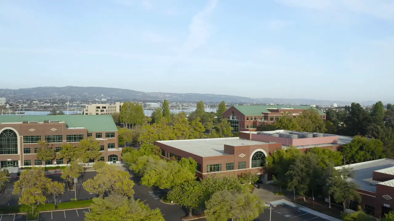
[[[34,214],[34,208],[37,208],[39,204],[45,204],[45,201],[46,197],[43,190],[37,187],[31,187],[23,190],[18,204],[32,207],[32,214]]]

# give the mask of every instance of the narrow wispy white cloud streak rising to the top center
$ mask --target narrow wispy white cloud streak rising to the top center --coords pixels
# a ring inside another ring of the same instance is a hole
[[[189,25],[189,35],[183,44],[181,57],[206,44],[211,36],[209,19],[217,6],[217,0],[209,0],[208,5],[193,17]]]

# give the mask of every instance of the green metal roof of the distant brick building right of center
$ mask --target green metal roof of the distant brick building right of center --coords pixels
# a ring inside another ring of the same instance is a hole
[[[234,105],[235,109],[240,111],[243,115],[261,115],[262,112],[269,112],[267,109],[309,109],[313,108],[318,110],[316,107],[307,105]],[[325,114],[323,111],[318,110],[319,114]]]

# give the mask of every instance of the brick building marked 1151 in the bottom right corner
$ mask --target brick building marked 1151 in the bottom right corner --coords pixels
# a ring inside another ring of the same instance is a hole
[[[372,160],[349,164],[346,167],[353,171],[354,178],[349,181],[359,185],[357,192],[362,198],[361,203],[349,201],[346,205],[349,210],[356,211],[358,206],[361,206],[365,213],[373,215],[375,218],[382,218],[392,211],[394,206],[394,160]],[[342,167],[336,167],[336,169],[340,168]]]

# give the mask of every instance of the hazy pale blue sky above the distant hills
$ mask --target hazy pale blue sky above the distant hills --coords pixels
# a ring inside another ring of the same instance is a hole
[[[0,0],[0,88],[394,101],[393,0]]]

